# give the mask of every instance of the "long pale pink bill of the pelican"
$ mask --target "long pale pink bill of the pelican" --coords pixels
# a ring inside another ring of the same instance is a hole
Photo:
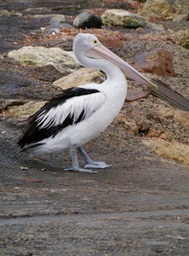
[[[108,61],[111,61],[113,64],[119,67],[123,71],[123,73],[130,79],[134,79],[136,82],[139,82],[140,84],[145,84],[147,86],[152,85],[158,90],[158,86],[156,84],[153,84],[150,80],[146,79],[134,67],[131,67],[127,62],[123,61],[117,55],[112,53],[110,49],[107,49],[102,44],[94,46],[93,49],[90,49],[87,52],[87,55],[94,58],[104,58]]]

